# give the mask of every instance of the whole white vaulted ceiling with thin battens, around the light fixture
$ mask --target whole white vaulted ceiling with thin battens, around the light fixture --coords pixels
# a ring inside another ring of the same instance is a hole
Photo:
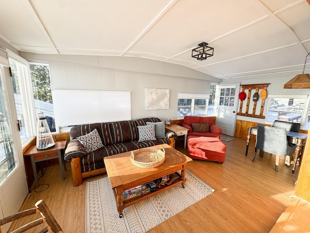
[[[307,0],[1,0],[0,39],[19,51],[144,57],[219,79],[248,78],[303,69],[310,51],[310,4]],[[191,57],[201,42],[214,48],[214,56],[204,61]]]

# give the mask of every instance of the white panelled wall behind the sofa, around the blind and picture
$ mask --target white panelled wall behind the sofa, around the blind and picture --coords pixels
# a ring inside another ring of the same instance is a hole
[[[220,81],[191,68],[144,58],[20,55],[30,62],[49,63],[53,89],[131,91],[132,119],[176,119],[179,92],[209,94],[210,81]],[[170,108],[145,110],[145,88],[170,89]]]

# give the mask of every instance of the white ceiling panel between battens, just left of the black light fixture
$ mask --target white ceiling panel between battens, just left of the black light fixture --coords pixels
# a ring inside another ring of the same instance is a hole
[[[235,4],[239,7],[232,11]],[[248,0],[212,0],[207,4],[204,0],[197,0],[195,4],[179,0],[131,51],[148,51],[171,57],[265,15],[265,12]],[[234,20],[230,20],[231,18]],[[218,27],[219,24],[221,27]]]

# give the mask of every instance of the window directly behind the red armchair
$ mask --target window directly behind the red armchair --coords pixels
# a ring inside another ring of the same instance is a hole
[[[179,93],[177,117],[206,116],[209,94]]]

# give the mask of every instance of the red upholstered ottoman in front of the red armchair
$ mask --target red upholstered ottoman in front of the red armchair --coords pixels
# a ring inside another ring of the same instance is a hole
[[[192,159],[225,161],[226,145],[216,137],[188,136],[187,150]]]

